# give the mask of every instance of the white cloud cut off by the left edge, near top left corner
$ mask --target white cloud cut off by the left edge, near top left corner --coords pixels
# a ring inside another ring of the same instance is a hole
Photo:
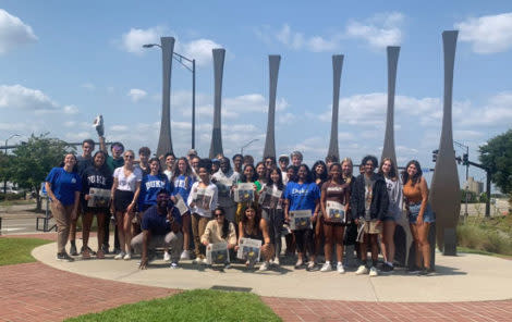
[[[29,25],[0,9],[0,54],[35,41],[37,37]]]

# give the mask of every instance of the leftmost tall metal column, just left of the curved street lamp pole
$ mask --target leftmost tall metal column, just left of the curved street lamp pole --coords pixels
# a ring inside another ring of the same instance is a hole
[[[160,137],[158,138],[157,156],[172,152],[171,139],[171,69],[174,54],[174,38],[161,37],[162,51],[162,112]]]

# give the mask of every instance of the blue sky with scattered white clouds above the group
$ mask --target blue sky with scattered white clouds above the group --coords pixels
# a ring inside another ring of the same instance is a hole
[[[463,4],[462,4],[463,3]],[[340,156],[380,157],[387,109],[387,46],[400,46],[395,97],[399,165],[434,168],[443,96],[443,30],[459,30],[453,137],[478,147],[512,125],[510,1],[26,1],[0,2],[0,141],[49,133],[66,141],[97,138],[156,150],[161,111],[161,36],[197,62],[196,148],[207,156],[214,112],[212,48],[227,50],[222,84],[224,153],[263,153],[268,54],[280,54],[277,153],[306,163],[329,146],[333,54],[343,54]],[[172,64],[174,152],[191,148],[192,73]],[[456,148],[456,153],[462,150]],[[459,166],[461,183],[464,168]],[[485,182],[485,173],[470,175]]]

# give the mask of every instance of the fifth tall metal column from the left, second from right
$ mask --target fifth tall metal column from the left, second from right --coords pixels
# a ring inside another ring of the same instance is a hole
[[[397,165],[394,149],[394,89],[397,87],[397,67],[399,63],[400,47],[388,46],[388,110],[386,113],[386,135],[382,158],[390,158]],[[398,169],[395,169],[398,170]]]

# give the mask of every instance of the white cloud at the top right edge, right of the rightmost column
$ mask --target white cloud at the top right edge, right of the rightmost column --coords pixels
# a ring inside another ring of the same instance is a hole
[[[501,52],[512,48],[512,12],[470,17],[455,23],[461,41],[472,44],[477,53]]]

